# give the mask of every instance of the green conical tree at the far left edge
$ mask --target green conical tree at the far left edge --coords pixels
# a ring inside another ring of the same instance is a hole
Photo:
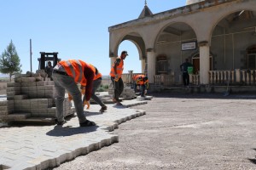
[[[20,58],[17,54],[15,44],[11,40],[9,46],[4,49],[3,54],[0,56],[0,72],[3,74],[9,74],[9,82],[11,82],[11,77],[15,73],[20,73]]]

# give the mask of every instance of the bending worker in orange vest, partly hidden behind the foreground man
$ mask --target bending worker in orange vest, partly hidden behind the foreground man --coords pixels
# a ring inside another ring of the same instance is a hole
[[[90,65],[90,64],[88,64]],[[92,83],[92,93],[91,93],[91,99],[93,99],[97,104],[101,105],[102,106],[102,109],[100,110],[100,112],[104,112],[104,111],[107,111],[107,106],[104,105],[102,103],[102,100],[99,99],[97,96],[96,96],[96,89],[98,89],[100,87],[100,85],[102,84],[102,73],[100,73],[97,68],[94,66],[94,65],[90,65],[90,67],[92,68],[93,72],[94,72],[94,79],[93,79],[93,83]],[[86,84],[86,82],[85,82]],[[84,92],[86,88],[85,87],[82,87],[82,92]],[[82,93],[84,94],[84,93]],[[83,99],[83,103],[84,101],[86,101],[86,95],[84,94],[84,99]]]

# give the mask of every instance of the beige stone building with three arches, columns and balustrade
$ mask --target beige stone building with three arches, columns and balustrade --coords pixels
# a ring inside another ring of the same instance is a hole
[[[196,85],[255,84],[256,1],[187,0],[185,6],[153,14],[145,3],[136,20],[110,26],[109,57],[133,42],[151,84],[181,84],[186,58]]]

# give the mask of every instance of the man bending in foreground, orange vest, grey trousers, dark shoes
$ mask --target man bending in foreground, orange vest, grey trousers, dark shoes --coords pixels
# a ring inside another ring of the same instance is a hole
[[[84,82],[86,82],[86,100],[84,103],[85,105],[88,105],[87,108],[89,108],[89,100],[92,93],[92,82],[94,76],[95,74],[91,66],[80,59],[61,60],[57,65],[55,65],[52,78],[55,82],[56,90],[55,105],[57,125],[63,125],[67,122],[63,116],[63,101],[65,99],[65,90],[67,90],[67,93],[71,94],[73,97],[73,103],[77,112],[77,116],[79,117],[80,127],[90,127],[96,125],[95,122],[87,120],[86,116],[84,115],[82,95],[77,86],[77,83],[80,83],[82,86],[84,86]]]

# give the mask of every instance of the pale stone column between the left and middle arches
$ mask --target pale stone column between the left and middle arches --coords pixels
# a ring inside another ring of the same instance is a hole
[[[148,82],[154,83],[155,76],[155,53],[152,48],[147,49],[148,60]]]

